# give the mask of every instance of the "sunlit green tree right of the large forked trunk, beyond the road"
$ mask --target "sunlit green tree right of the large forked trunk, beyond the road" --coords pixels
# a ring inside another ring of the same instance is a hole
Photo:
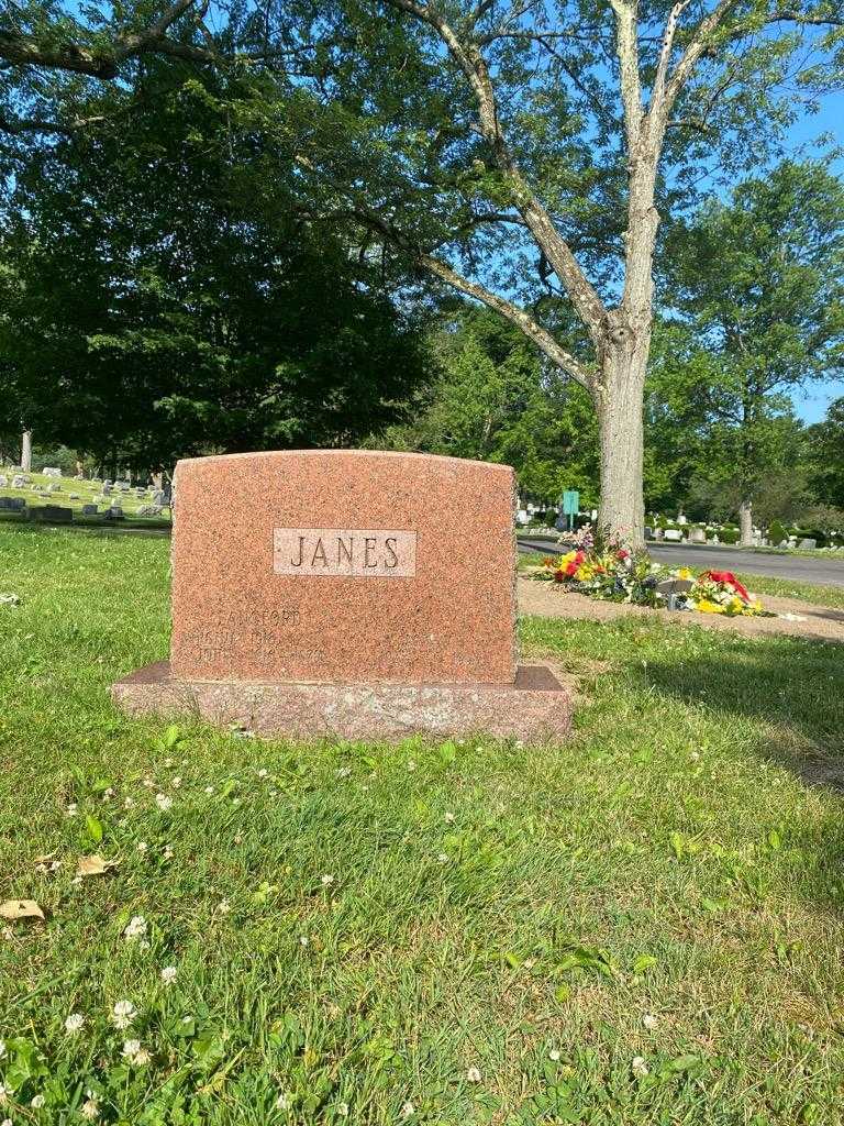
[[[647,401],[658,464],[699,511],[790,519],[809,497],[790,394],[844,366],[844,187],[824,162],[785,161],[677,224],[670,249]]]

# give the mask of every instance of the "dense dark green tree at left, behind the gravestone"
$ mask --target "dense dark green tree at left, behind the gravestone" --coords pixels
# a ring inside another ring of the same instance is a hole
[[[138,466],[351,445],[425,376],[377,260],[314,226],[214,71],[43,149],[0,243],[0,430]],[[107,170],[107,171],[105,171]]]

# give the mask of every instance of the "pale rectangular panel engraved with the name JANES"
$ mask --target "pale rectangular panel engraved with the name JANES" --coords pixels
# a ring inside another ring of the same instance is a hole
[[[416,533],[385,528],[276,528],[277,574],[406,579],[416,573]]]

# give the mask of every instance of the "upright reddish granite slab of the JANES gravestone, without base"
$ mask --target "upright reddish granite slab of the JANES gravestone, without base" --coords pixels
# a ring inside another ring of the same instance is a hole
[[[180,462],[173,674],[512,685],[513,473],[422,454]]]

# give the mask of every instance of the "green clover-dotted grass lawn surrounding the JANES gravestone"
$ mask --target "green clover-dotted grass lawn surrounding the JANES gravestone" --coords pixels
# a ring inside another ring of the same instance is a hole
[[[261,742],[109,703],[168,553],[0,526],[0,1119],[842,1121],[839,646],[532,619],[565,745]]]

